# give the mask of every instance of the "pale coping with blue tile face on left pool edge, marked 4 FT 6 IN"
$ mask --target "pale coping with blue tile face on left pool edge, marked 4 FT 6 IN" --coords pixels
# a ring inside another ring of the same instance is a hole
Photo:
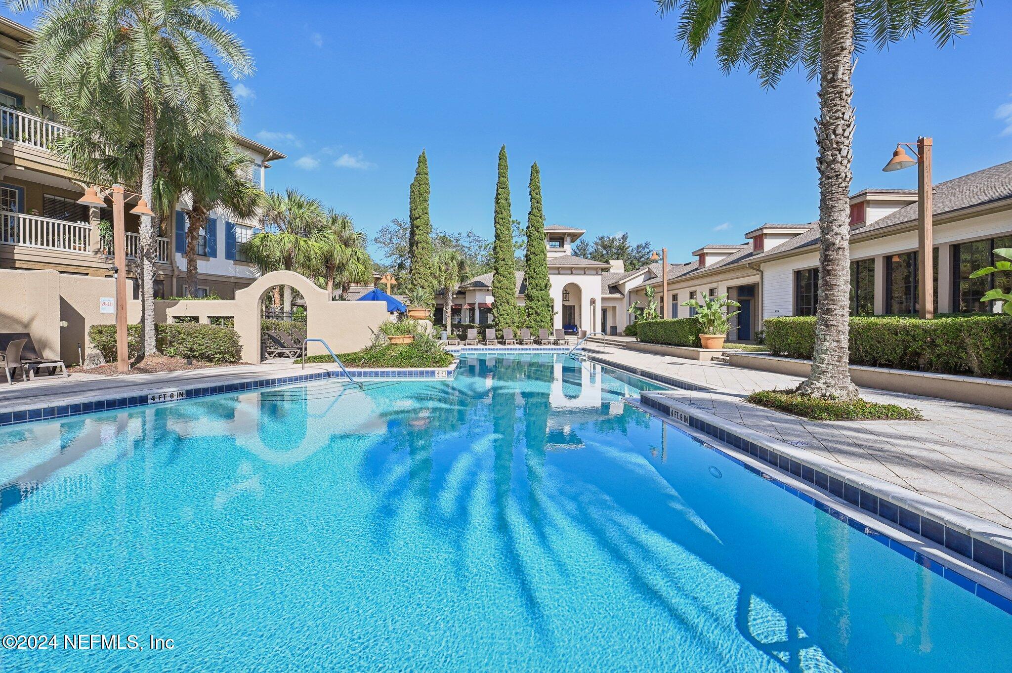
[[[351,368],[348,372],[353,378],[368,381],[449,381],[456,374],[456,366],[459,360],[454,359],[447,367],[417,367],[417,368]],[[182,400],[193,400],[208,397],[212,395],[229,395],[243,393],[247,391],[262,390],[265,388],[275,388],[278,386],[289,386],[324,378],[334,378],[338,381],[348,381],[344,372],[339,368],[331,368],[330,365],[314,365],[316,370],[309,373],[288,374],[284,376],[264,375],[262,378],[243,380],[228,382],[228,375],[223,376],[227,383],[215,385],[200,385],[192,382],[180,382],[172,386],[151,385],[148,382],[139,384],[134,390],[129,390],[129,394],[123,395],[121,390],[110,395],[109,391],[95,391],[91,394],[82,395],[77,402],[68,404],[52,404],[37,406],[37,402],[31,403],[24,408],[15,408],[11,411],[0,412],[0,428],[36,421],[49,421],[54,419],[71,418],[83,416],[103,411],[114,411],[118,409],[136,409],[152,405],[164,404],[167,402],[179,402]],[[130,389],[130,387],[125,387]]]

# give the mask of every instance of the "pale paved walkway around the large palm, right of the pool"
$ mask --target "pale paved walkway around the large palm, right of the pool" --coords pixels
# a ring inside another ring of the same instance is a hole
[[[742,400],[802,378],[610,346],[602,357],[711,388],[676,399],[1012,529],[1012,411],[862,390],[865,399],[916,407],[925,421],[809,421]]]

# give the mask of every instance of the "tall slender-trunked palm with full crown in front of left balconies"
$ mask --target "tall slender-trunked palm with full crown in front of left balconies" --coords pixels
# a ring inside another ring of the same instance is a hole
[[[240,78],[253,71],[240,39],[213,20],[231,20],[230,0],[7,0],[15,11],[41,10],[36,38],[22,57],[28,80],[54,112],[71,119],[110,104],[143,130],[141,193],[154,200],[160,114],[193,131],[226,131],[239,108],[219,62]],[[216,58],[204,52],[207,48]],[[73,128],[73,127],[71,127]],[[143,350],[155,352],[158,232],[141,221]]]

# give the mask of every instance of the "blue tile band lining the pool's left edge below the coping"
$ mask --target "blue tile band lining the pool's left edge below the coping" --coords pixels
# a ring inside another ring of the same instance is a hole
[[[418,369],[349,369],[355,380],[367,378],[371,381],[450,381],[456,373],[457,360],[448,367],[438,368],[418,368]],[[291,384],[309,383],[322,381],[325,378],[336,378],[347,381],[343,371],[328,369],[326,371],[314,371],[312,373],[294,374],[290,376],[273,376],[258,378],[256,381],[236,382],[233,384],[220,384],[218,386],[196,386],[193,388],[172,389],[172,392],[182,392],[185,395],[178,401],[194,400],[212,395],[229,395],[234,393],[245,393],[264,388],[274,388],[277,386],[289,386]],[[118,398],[104,400],[92,400],[76,404],[55,405],[40,407],[37,409],[23,409],[20,411],[0,412],[0,427],[20,425],[34,421],[47,421],[58,418],[71,418],[94,414],[103,411],[115,411],[118,409],[135,409],[138,407],[158,406],[165,402],[149,402],[149,395],[158,395],[169,392],[167,390],[151,390],[143,394],[126,395]]]

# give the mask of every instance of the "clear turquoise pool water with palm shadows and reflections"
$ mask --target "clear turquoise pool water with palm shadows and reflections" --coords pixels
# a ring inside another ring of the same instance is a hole
[[[1012,615],[621,402],[649,386],[473,355],[0,431],[0,634],[145,646],[0,670],[1009,670]]]

